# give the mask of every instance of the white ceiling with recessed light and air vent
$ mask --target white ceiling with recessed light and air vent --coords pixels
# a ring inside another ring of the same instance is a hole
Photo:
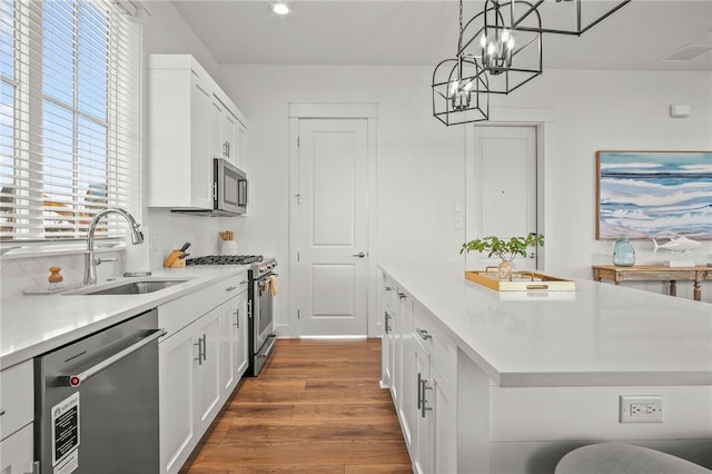
[[[604,0],[584,0],[585,2]],[[433,66],[455,56],[455,0],[174,0],[220,63]],[[555,8],[564,3],[545,3]],[[465,0],[468,19],[483,1]],[[546,17],[542,12],[542,23]],[[544,34],[551,69],[712,71],[712,51],[663,61],[685,45],[712,46],[712,0],[633,0],[582,34]]]

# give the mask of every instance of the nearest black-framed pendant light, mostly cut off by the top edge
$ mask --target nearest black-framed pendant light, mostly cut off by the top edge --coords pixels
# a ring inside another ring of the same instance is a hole
[[[531,14],[544,19],[544,27],[536,30],[543,33],[581,36],[602,20],[616,12],[631,0],[512,0],[517,14],[514,26],[522,29],[533,27],[523,24]],[[523,3],[518,8],[517,3]]]

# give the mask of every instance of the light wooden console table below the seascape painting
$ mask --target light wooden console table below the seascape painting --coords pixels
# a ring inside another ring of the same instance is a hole
[[[670,296],[678,296],[678,282],[694,282],[694,300],[702,299],[700,283],[712,279],[712,267],[665,267],[663,265],[634,265],[616,267],[614,265],[593,265],[593,278],[615,282],[670,282]]]

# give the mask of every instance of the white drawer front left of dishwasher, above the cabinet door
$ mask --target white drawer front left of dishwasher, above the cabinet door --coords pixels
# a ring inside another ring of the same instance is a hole
[[[0,372],[0,440],[32,423],[34,387],[32,361]]]

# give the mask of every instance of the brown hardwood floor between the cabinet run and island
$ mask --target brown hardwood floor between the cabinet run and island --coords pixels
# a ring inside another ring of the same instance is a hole
[[[412,473],[379,379],[380,339],[278,339],[180,473]]]

